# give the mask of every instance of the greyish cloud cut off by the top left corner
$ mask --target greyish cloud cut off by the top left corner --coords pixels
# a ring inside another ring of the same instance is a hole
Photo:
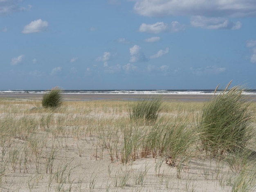
[[[31,5],[27,7],[21,7],[19,3],[21,0],[0,0],[0,14],[8,14],[18,11],[28,11],[31,9]]]

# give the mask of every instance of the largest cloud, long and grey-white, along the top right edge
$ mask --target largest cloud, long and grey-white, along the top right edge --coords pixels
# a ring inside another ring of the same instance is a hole
[[[255,0],[134,0],[143,16],[243,17],[256,15]]]

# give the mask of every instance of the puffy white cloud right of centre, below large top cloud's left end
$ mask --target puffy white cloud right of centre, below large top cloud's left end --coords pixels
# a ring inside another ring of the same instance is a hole
[[[164,22],[156,22],[152,25],[142,23],[139,26],[139,32],[148,32],[148,33],[161,33],[167,31],[168,26]]]

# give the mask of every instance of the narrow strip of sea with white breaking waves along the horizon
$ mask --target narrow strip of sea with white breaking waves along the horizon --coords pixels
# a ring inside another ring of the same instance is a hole
[[[64,94],[214,94],[214,89],[148,89],[148,90],[63,90]],[[217,94],[222,90],[218,90]],[[45,93],[45,90],[0,90],[0,93]],[[256,95],[256,89],[243,91],[246,95]]]

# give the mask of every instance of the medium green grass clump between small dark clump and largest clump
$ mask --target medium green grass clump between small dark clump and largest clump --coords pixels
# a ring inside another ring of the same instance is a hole
[[[163,101],[161,97],[142,98],[129,106],[130,119],[155,121],[159,116]]]

